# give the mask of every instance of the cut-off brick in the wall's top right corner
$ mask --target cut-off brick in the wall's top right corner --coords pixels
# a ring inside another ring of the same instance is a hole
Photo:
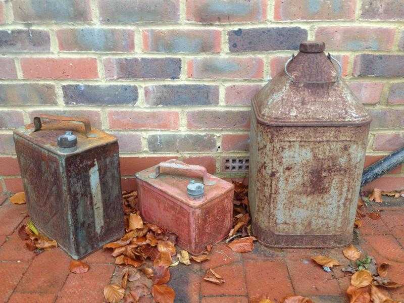
[[[361,19],[402,20],[404,8],[401,0],[364,0]]]

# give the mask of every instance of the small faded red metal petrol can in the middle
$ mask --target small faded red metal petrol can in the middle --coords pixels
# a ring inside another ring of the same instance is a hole
[[[143,219],[175,233],[182,249],[197,255],[227,236],[233,219],[234,185],[206,168],[177,160],[136,174]]]

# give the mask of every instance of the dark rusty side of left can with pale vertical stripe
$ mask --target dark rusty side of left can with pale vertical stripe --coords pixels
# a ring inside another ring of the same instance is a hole
[[[84,257],[124,233],[118,144],[94,147],[66,158],[74,246]]]

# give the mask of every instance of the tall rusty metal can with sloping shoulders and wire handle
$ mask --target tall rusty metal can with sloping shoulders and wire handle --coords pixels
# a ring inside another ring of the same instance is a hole
[[[324,46],[302,42],[252,99],[248,197],[254,234],[269,246],[352,238],[371,118]]]

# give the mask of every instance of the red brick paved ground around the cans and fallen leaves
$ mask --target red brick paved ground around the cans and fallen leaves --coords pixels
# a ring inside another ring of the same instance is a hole
[[[380,210],[381,220],[364,218],[354,244],[377,263],[389,263],[388,277],[404,284],[404,199],[394,201],[372,206]],[[0,206],[0,301],[103,302],[103,287],[120,281],[122,272],[110,252],[100,250],[87,257],[87,273],[70,273],[70,258],[59,248],[40,255],[24,248],[16,230],[25,212],[25,206],[8,200]],[[316,303],[347,302],[349,276],[340,267],[323,271],[310,260],[318,254],[348,264],[341,249],[270,249],[256,244],[254,251],[236,254],[218,244],[210,261],[172,268],[169,284],[176,291],[176,302],[243,303],[260,295],[277,302],[293,293],[310,296]],[[207,268],[214,268],[226,282],[203,281]],[[404,299],[404,287],[389,292],[393,299]]]

